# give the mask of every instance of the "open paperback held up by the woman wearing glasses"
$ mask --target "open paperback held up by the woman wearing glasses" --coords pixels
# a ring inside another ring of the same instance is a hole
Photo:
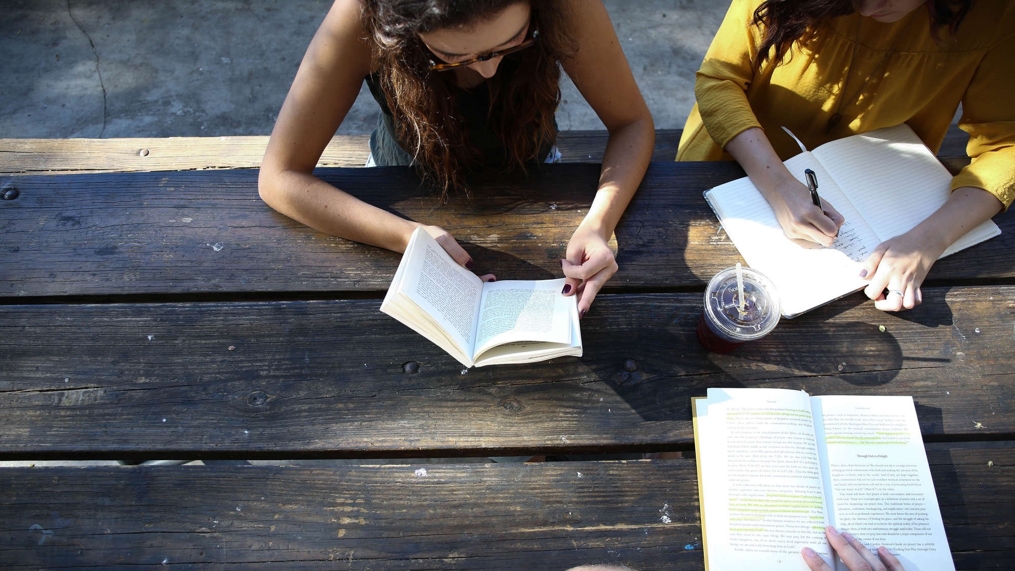
[[[417,228],[381,311],[466,367],[581,357],[578,296],[563,287],[563,277],[483,282]]]

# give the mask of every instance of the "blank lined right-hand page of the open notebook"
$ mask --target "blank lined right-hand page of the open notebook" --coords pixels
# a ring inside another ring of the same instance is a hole
[[[912,230],[951,195],[951,174],[904,123],[830,141],[812,152],[879,242]],[[988,221],[976,230],[997,228]]]

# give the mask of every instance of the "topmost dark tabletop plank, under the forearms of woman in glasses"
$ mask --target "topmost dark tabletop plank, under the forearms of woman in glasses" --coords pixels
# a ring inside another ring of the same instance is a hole
[[[528,179],[478,180],[475,199],[437,207],[404,168],[321,170],[322,178],[400,215],[455,235],[481,271],[560,275],[588,212],[599,167],[551,165]],[[657,163],[616,231],[612,291],[701,288],[740,260],[701,192],[742,176],[735,164]],[[0,177],[0,297],[386,291],[393,252],[303,227],[268,207],[254,171]],[[1007,279],[1015,218],[1001,237],[942,260],[929,279]]]

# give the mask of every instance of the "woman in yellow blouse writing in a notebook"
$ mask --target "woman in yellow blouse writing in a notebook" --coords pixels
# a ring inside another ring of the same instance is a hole
[[[959,104],[970,165],[940,209],[881,243],[861,277],[886,311],[921,303],[938,256],[1015,198],[1015,4],[1003,0],[734,0],[697,72],[678,161],[735,158],[787,236],[828,246],[842,216],[783,161],[906,123],[933,151]],[[887,296],[884,294],[887,288]]]

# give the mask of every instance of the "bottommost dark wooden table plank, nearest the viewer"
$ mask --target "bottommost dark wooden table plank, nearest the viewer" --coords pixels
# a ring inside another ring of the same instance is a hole
[[[1007,569],[1015,448],[928,459],[956,568]],[[691,459],[0,468],[0,486],[6,569],[703,568]]]

